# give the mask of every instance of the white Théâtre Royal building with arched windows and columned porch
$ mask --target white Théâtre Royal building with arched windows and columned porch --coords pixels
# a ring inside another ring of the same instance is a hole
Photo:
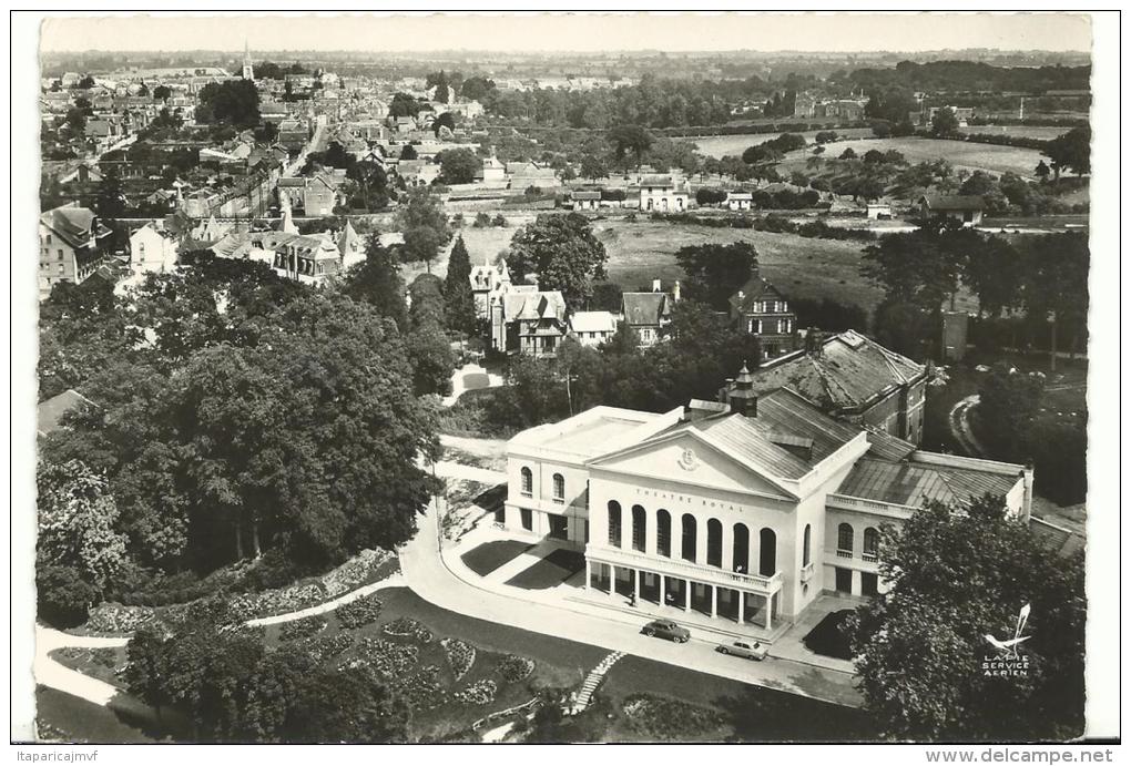
[[[883,589],[880,527],[927,501],[990,492],[1028,516],[1020,465],[924,453],[788,387],[758,395],[745,369],[726,398],[523,431],[508,442],[504,526],[584,550],[590,596],[769,636],[822,592]]]

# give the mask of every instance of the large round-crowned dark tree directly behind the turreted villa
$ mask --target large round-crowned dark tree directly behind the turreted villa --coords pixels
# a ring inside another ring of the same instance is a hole
[[[593,298],[593,282],[604,278],[607,258],[584,215],[542,214],[515,233],[507,265],[519,281],[536,273],[542,290],[560,290],[577,307]]]

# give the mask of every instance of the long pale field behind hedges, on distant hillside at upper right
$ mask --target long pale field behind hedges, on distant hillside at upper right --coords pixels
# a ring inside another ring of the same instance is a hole
[[[949,141],[935,138],[873,138],[865,140],[836,141],[826,144],[824,156],[839,157],[851,148],[857,155],[869,149],[901,152],[907,162],[914,164],[947,160],[955,170],[990,171],[994,174],[1004,172],[1017,173],[1022,178],[1033,175],[1033,169],[1041,162],[1041,152],[1022,149],[1015,146],[994,146],[993,144],[970,144],[967,141]],[[805,161],[810,157],[809,149],[791,152],[785,162],[779,165],[783,173],[794,170],[804,171]]]

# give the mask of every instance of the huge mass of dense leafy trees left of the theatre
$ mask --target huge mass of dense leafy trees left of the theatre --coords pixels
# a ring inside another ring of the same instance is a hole
[[[382,293],[352,275],[355,301],[209,256],[187,253],[185,268],[128,298],[92,279],[43,304],[42,395],[78,387],[96,403],[42,445],[44,482],[85,466],[85,483],[44,496],[44,513],[70,507],[81,523],[52,522],[75,531],[43,554],[94,592],[267,550],[321,567],[389,548],[433,490],[416,466],[434,448],[433,415],[414,395],[405,337],[378,308],[407,321],[403,286]],[[92,534],[123,536],[120,566],[83,559]]]

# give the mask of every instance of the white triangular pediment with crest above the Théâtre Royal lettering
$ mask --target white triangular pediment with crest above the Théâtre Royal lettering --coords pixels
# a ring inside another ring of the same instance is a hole
[[[590,461],[589,465],[625,475],[795,499],[753,466],[727,455],[693,431],[628,447]]]

